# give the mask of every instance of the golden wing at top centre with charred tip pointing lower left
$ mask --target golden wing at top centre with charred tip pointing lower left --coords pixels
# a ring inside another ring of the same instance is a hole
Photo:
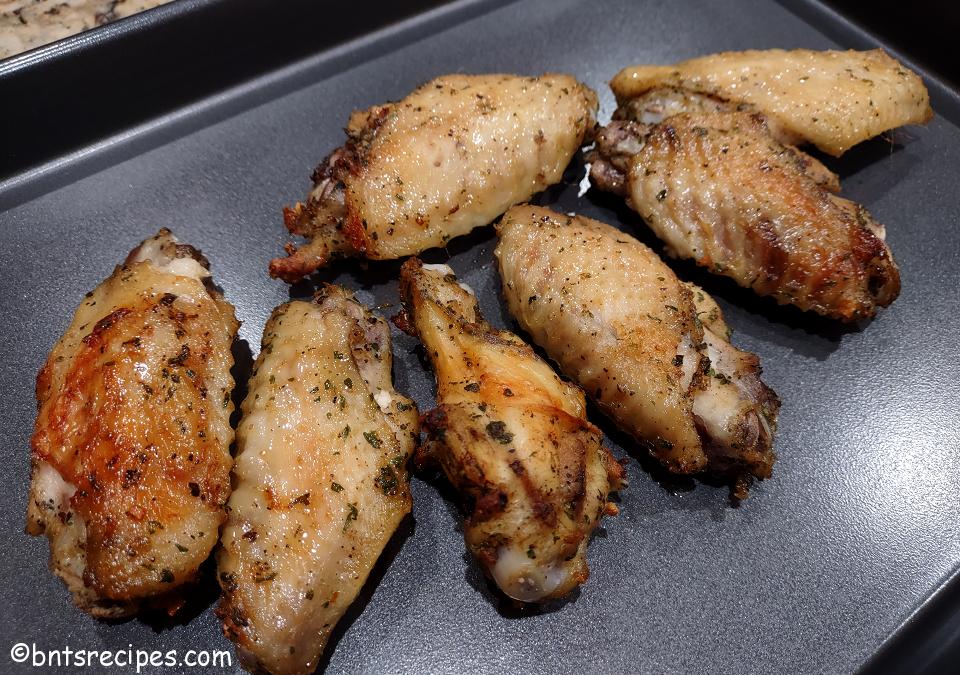
[[[355,112],[307,203],[284,212],[310,243],[288,245],[270,274],[293,282],[338,254],[400,258],[486,225],[560,180],[596,109],[569,75],[447,75]]]

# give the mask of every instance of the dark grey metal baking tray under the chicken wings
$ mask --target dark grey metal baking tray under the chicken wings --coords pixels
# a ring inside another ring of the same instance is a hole
[[[265,266],[284,240],[279,207],[302,197],[313,166],[342,141],[351,109],[450,71],[565,71],[597,89],[606,118],[606,82],[629,63],[838,45],[873,42],[812,2],[454,2],[321,46],[0,184],[0,669],[42,672],[16,670],[7,650],[18,642],[230,649],[211,612],[215,584],[198,589],[172,622],[96,622],[47,571],[46,542],[21,534],[35,373],[81,296],[137,241],[165,225],[203,249],[244,321],[242,372],[271,308],[310,292],[310,284],[291,290],[268,279]],[[724,487],[669,479],[595,417],[614,452],[631,457],[621,515],[594,538],[581,592],[516,610],[465,555],[442,481],[415,478],[413,517],[338,628],[327,671],[811,673],[922,664],[923,654],[910,661],[903,650],[955,606],[957,585],[947,582],[960,562],[960,97],[929,77],[928,85],[938,115],[927,127],[828,160],[846,194],[887,225],[901,266],[903,294],[875,321],[843,328],[675,264],[715,294],[735,342],[760,355],[783,399],[771,480],[732,507]],[[578,197],[579,171],[541,201],[655,245],[616,200]],[[484,228],[427,257],[449,259],[488,318],[512,327],[492,245]],[[397,269],[352,262],[319,278],[383,307],[396,303]],[[398,388],[428,409],[432,376],[414,342],[395,335],[395,350]]]

